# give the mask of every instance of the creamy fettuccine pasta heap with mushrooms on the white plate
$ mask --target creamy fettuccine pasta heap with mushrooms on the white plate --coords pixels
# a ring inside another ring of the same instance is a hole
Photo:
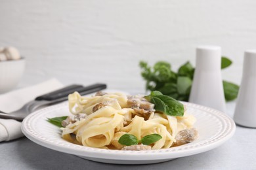
[[[151,144],[152,149],[170,148],[175,145],[177,133],[192,128],[196,122],[186,112],[184,116],[169,116],[154,110],[152,103],[143,97],[123,93],[82,97],[75,92],[69,95],[68,101],[70,112],[78,120],[62,128],[63,139],[93,148],[121,149],[123,145],[118,140],[127,133],[139,140],[157,133],[161,139]],[[131,107],[133,101],[142,104]],[[83,118],[79,118],[81,114]]]

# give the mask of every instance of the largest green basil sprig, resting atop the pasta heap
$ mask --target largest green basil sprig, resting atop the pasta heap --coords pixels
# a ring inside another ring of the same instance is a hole
[[[154,103],[154,109],[157,111],[170,116],[183,116],[184,114],[184,106],[181,102],[173,99],[173,97],[161,95],[160,92],[154,91],[145,98],[151,103]]]

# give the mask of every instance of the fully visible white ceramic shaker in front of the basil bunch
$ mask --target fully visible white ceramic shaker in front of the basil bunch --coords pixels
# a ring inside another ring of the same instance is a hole
[[[221,47],[196,48],[196,70],[189,101],[222,112],[226,111],[221,76]]]

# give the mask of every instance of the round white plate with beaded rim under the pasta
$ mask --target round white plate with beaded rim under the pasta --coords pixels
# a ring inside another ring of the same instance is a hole
[[[47,122],[47,118],[66,116],[68,103],[47,107],[27,116],[22,122],[22,131],[28,139],[47,148],[74,154],[87,160],[118,164],[144,164],[173,160],[216,148],[234,135],[234,121],[218,110],[185,103],[188,113],[193,114],[197,122],[196,129],[200,137],[189,144],[160,150],[106,150],[69,143],[61,138],[58,127]]]

